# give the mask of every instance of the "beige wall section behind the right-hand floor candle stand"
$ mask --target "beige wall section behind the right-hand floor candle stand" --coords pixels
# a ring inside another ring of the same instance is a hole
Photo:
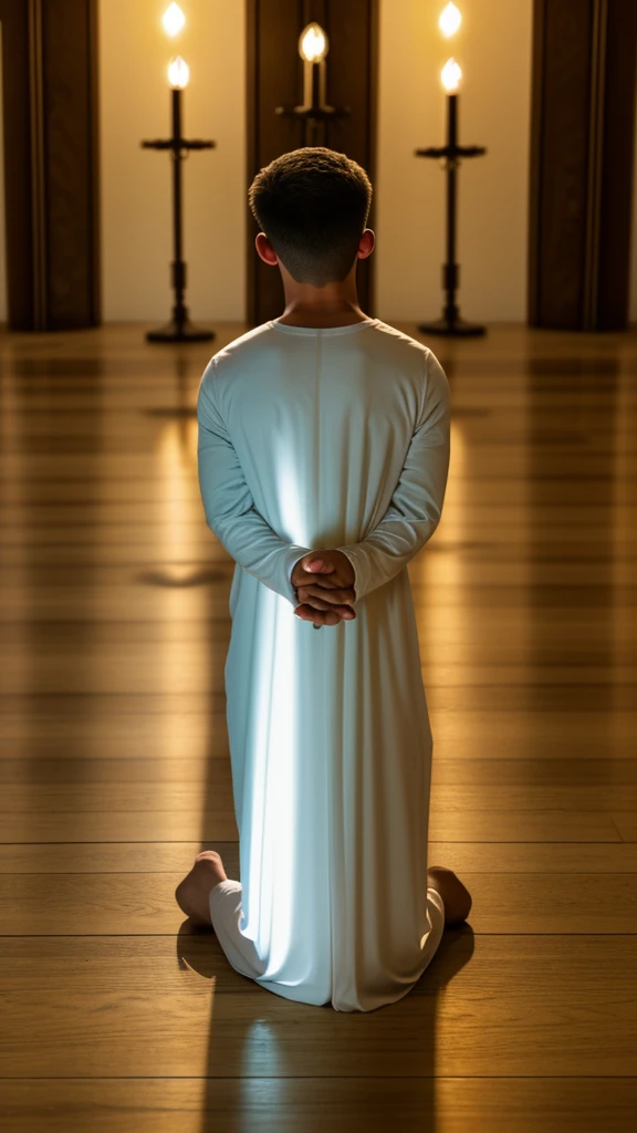
[[[460,308],[466,318],[526,318],[532,0],[458,0],[444,40],[444,0],[381,0],[377,172],[379,315],[438,317],[444,259],[444,173],[415,148],[443,145],[441,66],[464,70],[460,142],[487,154],[459,179]]]

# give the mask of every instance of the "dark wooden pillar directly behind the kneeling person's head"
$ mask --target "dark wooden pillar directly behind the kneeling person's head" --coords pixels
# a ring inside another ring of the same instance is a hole
[[[303,103],[303,62],[298,37],[316,20],[328,33],[328,103],[349,107],[350,114],[328,122],[323,140],[303,140],[303,127],[275,113],[277,107]],[[377,90],[377,0],[248,0],[247,2],[247,177],[300,146],[325,145],[346,153],[375,173]],[[247,186],[246,186],[247,197]],[[248,225],[248,321],[253,325],[282,314],[283,288],[278,269],[258,258],[258,232],[246,199]],[[374,199],[367,221],[374,227]],[[374,256],[357,266],[358,297],[373,314]]]

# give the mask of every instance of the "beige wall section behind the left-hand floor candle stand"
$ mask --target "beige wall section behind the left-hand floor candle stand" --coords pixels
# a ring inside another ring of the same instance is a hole
[[[185,0],[171,40],[168,0],[100,0],[103,317],[159,320],[172,306],[171,169],[142,138],[170,134],[165,68],[190,67],[184,133],[215,150],[184,163],[184,258],[193,320],[241,318],[245,306],[245,26],[241,0]]]

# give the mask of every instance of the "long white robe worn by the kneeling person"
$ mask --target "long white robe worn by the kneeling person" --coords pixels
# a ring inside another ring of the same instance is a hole
[[[237,971],[288,999],[373,1011],[442,936],[427,888],[432,735],[407,563],[449,467],[434,355],[377,318],[272,320],[199,385],[206,521],[236,560],[226,662],[240,878],[211,893]],[[339,548],[357,616],[294,614],[294,564]]]

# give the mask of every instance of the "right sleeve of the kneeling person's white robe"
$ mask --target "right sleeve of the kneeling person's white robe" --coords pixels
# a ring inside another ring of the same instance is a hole
[[[428,351],[421,411],[391,503],[365,539],[337,548],[354,566],[356,602],[398,574],[435,531],[449,457],[449,383]]]

